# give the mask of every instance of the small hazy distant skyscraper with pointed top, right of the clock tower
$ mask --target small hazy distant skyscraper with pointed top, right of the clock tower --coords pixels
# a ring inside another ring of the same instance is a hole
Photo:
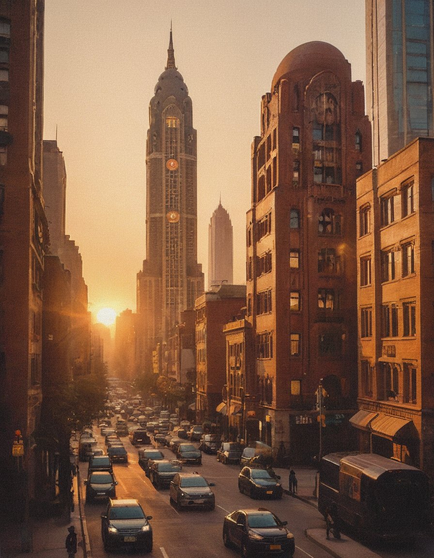
[[[208,232],[208,288],[234,282],[232,223],[228,211],[221,205],[214,211]]]

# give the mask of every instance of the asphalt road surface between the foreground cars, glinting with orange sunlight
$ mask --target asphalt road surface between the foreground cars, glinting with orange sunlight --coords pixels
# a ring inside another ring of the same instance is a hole
[[[238,490],[238,465],[223,465],[215,455],[202,454],[202,465],[186,465],[183,470],[197,470],[208,482],[215,483],[215,510],[177,511],[169,502],[168,488],[156,490],[153,487],[138,465],[137,448],[130,444],[128,438],[122,440],[128,451],[129,463],[113,465],[118,480],[117,497],[137,498],[145,513],[152,516],[153,551],[148,554],[150,558],[236,558],[239,556],[237,551],[223,545],[223,519],[235,509],[252,507],[266,507],[288,521],[288,528],[295,535],[295,558],[330,558],[328,552],[305,537],[306,527],[324,527],[324,520],[314,507],[285,494],[277,501],[252,500]],[[103,445],[104,441],[101,443]],[[173,459],[168,448],[162,451],[168,459]],[[86,469],[87,464],[80,463],[82,480],[86,478]],[[84,496],[83,486],[81,490]],[[123,555],[123,551],[106,552],[103,549],[100,515],[104,509],[103,502],[85,505],[93,558]]]

